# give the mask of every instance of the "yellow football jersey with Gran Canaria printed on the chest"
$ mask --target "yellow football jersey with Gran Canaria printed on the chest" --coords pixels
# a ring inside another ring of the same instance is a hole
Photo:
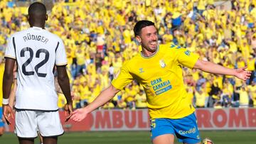
[[[139,53],[127,61],[112,85],[124,89],[137,79],[146,92],[151,118],[183,118],[195,109],[183,84],[182,67],[193,68],[198,57],[173,43],[159,45],[151,57]]]

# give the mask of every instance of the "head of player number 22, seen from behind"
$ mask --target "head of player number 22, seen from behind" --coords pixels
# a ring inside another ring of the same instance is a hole
[[[40,2],[31,4],[28,8],[28,21],[30,26],[38,26],[44,28],[48,16],[46,14],[46,6]]]

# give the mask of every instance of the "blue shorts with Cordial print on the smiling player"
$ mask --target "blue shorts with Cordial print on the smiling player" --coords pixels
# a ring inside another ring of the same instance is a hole
[[[173,134],[180,143],[200,143],[200,133],[197,126],[196,115],[178,119],[156,118],[151,120],[151,140],[159,135]]]

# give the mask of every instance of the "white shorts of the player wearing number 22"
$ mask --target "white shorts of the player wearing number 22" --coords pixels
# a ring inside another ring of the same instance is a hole
[[[16,110],[15,133],[18,138],[36,138],[38,133],[43,137],[63,135],[58,111]]]

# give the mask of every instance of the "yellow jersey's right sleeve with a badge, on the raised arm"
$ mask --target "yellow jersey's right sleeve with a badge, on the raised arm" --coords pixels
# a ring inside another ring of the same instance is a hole
[[[177,60],[178,63],[180,63],[181,65],[188,67],[188,68],[193,68],[194,65],[196,64],[199,55],[194,54],[193,52],[186,50],[186,48],[180,48],[179,50],[177,50]]]

